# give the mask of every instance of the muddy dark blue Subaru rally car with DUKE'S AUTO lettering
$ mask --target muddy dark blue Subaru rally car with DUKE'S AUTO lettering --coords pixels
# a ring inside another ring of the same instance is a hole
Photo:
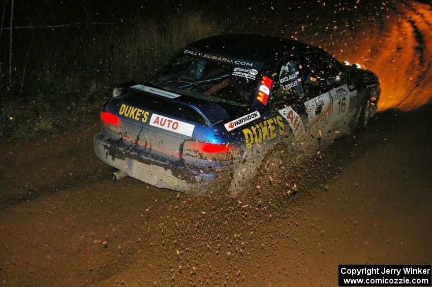
[[[313,149],[364,127],[379,95],[374,73],[320,48],[214,36],[183,47],[147,80],[116,86],[95,151],[117,179],[238,193],[273,146]]]

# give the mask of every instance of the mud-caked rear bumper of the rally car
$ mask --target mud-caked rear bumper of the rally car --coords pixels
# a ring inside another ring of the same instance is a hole
[[[101,161],[150,185],[201,194],[229,184],[229,166],[211,168],[186,163],[143,146],[115,138],[103,130],[94,137],[95,152]]]

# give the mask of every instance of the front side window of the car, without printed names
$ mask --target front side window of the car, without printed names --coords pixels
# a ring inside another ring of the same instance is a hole
[[[344,80],[345,74],[330,58],[323,55],[307,55],[303,58],[303,74],[307,90],[324,92]]]

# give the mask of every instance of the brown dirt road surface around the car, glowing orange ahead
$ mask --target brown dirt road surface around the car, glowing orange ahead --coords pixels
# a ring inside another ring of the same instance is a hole
[[[397,36],[347,48],[377,70],[382,112],[299,175],[287,165],[285,189],[265,170],[240,199],[113,184],[92,149],[97,110],[76,131],[2,143],[2,285],[335,286],[338,264],[431,264],[432,106],[413,108],[430,95],[432,17],[408,4],[367,30]],[[330,42],[336,54],[341,43]],[[390,56],[404,81],[388,72]]]

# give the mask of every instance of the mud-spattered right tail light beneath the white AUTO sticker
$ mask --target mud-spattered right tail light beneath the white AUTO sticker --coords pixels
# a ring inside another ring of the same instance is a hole
[[[207,161],[229,161],[240,157],[238,147],[230,144],[213,144],[197,141],[185,141],[183,155],[189,155]]]

